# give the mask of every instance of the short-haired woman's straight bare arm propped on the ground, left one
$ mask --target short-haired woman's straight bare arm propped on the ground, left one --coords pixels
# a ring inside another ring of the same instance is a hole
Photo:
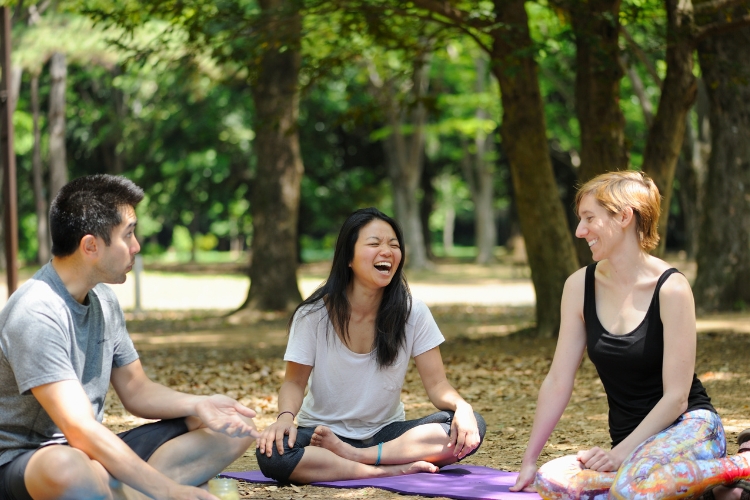
[[[585,269],[580,269],[565,282],[560,306],[560,336],[552,366],[539,388],[531,436],[512,491],[535,491],[536,461],[573,393],[576,370],[586,348],[586,326],[583,321],[585,273]]]

